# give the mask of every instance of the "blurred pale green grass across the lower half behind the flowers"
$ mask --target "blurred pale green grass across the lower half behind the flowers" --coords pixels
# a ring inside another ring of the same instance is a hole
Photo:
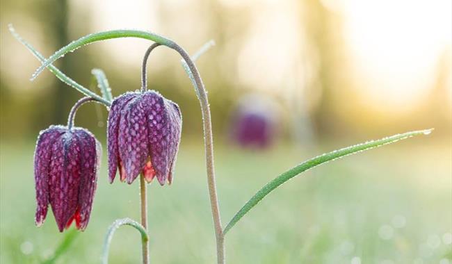
[[[325,142],[317,149],[280,145],[264,152],[217,144],[223,224],[280,172],[360,141]],[[65,233],[58,232],[50,210],[44,226],[34,225],[33,142],[3,141],[0,151],[0,263],[40,263]],[[215,263],[203,154],[201,142],[183,140],[175,182],[149,188],[152,263]],[[105,158],[104,149],[88,229],[57,263],[99,263],[111,222],[139,219],[138,181],[109,185]],[[358,263],[357,258],[361,263],[451,263],[451,159],[450,142],[421,137],[305,172],[227,234],[227,263]],[[140,263],[137,231],[124,226],[115,233],[110,263]]]

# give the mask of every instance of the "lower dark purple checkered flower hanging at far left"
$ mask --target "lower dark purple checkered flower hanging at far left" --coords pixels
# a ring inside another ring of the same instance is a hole
[[[35,149],[36,225],[50,204],[62,232],[75,221],[83,231],[90,220],[101,146],[86,129],[50,126]]]

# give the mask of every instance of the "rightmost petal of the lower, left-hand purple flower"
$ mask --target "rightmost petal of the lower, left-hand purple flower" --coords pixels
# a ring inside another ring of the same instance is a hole
[[[81,150],[80,167],[81,182],[79,188],[78,209],[75,215],[77,229],[86,229],[90,220],[92,201],[97,186],[97,172],[100,165],[102,147],[89,131],[75,129],[77,141]]]

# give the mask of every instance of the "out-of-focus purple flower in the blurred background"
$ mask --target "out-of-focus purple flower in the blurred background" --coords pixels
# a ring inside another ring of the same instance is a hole
[[[275,104],[257,94],[242,97],[232,117],[232,139],[241,147],[265,148],[277,134]]]

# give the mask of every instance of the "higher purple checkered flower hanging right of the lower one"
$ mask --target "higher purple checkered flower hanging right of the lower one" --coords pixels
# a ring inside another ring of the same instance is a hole
[[[172,182],[182,119],[179,106],[155,91],[127,92],[117,97],[108,114],[108,179],[132,183],[143,173],[150,183]]]

